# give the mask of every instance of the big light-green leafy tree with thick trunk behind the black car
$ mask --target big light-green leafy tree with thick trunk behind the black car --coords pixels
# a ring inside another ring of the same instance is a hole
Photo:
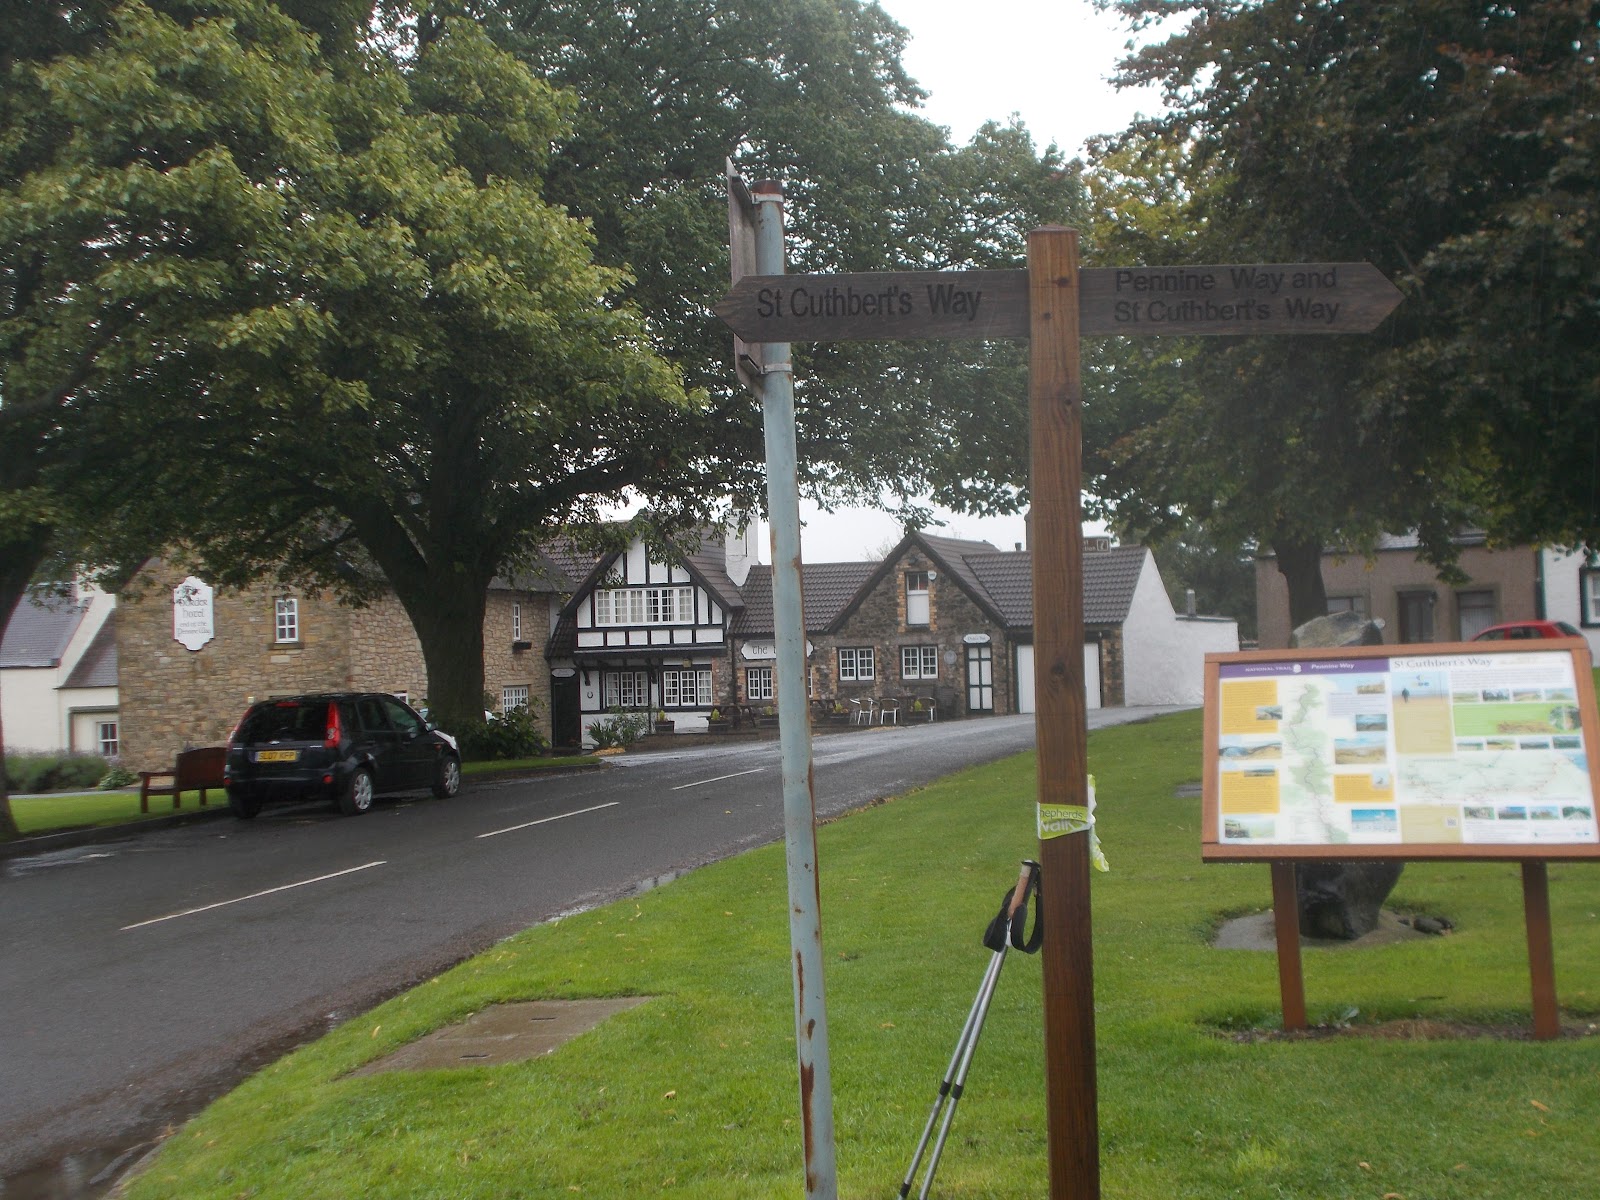
[[[6,442],[37,429],[74,530],[117,514],[102,557],[181,536],[224,584],[382,579],[434,704],[477,712],[490,579],[670,470],[690,403],[541,195],[566,101],[467,21],[51,16],[98,26],[11,74],[58,133],[0,202]]]

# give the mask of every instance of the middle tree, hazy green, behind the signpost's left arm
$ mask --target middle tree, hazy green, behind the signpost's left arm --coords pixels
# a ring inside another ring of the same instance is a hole
[[[1054,147],[992,125],[952,147],[915,112],[906,32],[858,0],[640,0],[475,10],[576,112],[552,198],[590,219],[602,261],[691,386],[693,494],[760,494],[760,419],[726,330],[723,160],[784,184],[790,270],[1021,266],[1029,227],[1069,221],[1080,184]],[[1026,470],[1026,368],[1014,346],[797,347],[802,470],[824,502],[933,494],[1008,509]],[[667,502],[672,496],[658,498]]]

